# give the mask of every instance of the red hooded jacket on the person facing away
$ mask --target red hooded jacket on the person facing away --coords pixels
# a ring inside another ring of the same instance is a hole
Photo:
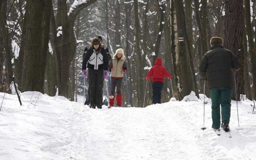
[[[149,70],[146,79],[149,80],[152,76],[153,82],[160,81],[164,82],[164,76],[167,78],[171,78],[171,75],[167,72],[167,70],[162,66],[161,58],[157,58],[155,61],[155,65]]]

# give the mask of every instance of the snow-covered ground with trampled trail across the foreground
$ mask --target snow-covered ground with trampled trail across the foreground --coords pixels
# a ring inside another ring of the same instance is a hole
[[[189,99],[198,101],[100,110],[61,96],[32,94],[21,94],[22,106],[16,95],[5,95],[0,112],[1,160],[256,159],[256,114],[248,113],[253,104],[249,100],[238,103],[240,127],[232,101],[229,138],[211,130],[208,99],[207,129],[200,129],[203,103],[193,95]],[[0,103],[3,96],[0,93]]]

